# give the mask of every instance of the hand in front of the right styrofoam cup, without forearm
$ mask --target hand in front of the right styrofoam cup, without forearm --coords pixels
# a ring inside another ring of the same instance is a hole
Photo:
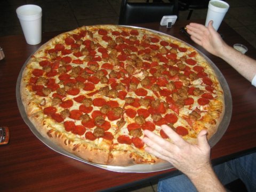
[[[190,38],[204,47],[204,49],[218,57],[225,51],[227,44],[222,40],[220,34],[213,28],[213,21],[210,21],[208,27],[205,27],[198,23],[190,23],[186,26],[187,32],[190,34]]]

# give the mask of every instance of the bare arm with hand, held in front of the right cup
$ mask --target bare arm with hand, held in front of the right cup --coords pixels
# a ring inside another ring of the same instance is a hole
[[[186,26],[191,39],[204,47],[204,49],[217,57],[225,60],[243,75],[248,81],[252,82],[253,77],[256,75],[256,60],[247,57],[233,47],[227,45],[217,31],[213,28],[212,22],[209,22],[208,27],[198,23],[190,23]]]

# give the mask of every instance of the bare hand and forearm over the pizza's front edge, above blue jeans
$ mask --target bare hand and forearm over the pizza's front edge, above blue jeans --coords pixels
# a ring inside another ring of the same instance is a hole
[[[206,139],[206,130],[198,134],[198,144],[191,145],[169,126],[162,125],[162,129],[173,142],[145,130],[147,137],[143,138],[143,141],[147,144],[145,150],[148,153],[169,161],[188,176],[198,191],[225,191],[210,163],[210,146]]]

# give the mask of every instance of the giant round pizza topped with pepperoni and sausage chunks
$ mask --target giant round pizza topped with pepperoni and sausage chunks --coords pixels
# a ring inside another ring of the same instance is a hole
[[[144,150],[143,130],[187,142],[217,131],[225,103],[211,65],[193,47],[147,29],[84,26],[42,45],[23,70],[26,114],[45,138],[85,161],[163,162]],[[170,140],[171,141],[171,140]]]

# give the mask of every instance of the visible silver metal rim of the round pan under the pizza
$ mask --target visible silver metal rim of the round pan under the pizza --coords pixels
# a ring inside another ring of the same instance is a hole
[[[126,27],[133,27],[133,26],[126,26]],[[133,27],[133,28],[140,28],[140,27]],[[141,29],[146,29],[146,28],[141,28]],[[181,42],[183,42],[182,40],[175,38],[171,35],[167,35],[164,33],[161,33],[159,31],[155,31],[155,30],[151,30],[151,29],[147,29],[150,30],[154,33],[157,34],[161,34],[161,35],[166,35],[166,36],[170,36],[174,39],[177,39]],[[187,45],[189,45],[186,42],[183,42]],[[189,45],[191,46],[191,45]],[[191,46],[193,47],[193,46]],[[195,47],[193,47],[195,50],[197,50]],[[208,58],[206,57],[206,55],[204,55],[201,51],[197,50],[206,60],[207,62],[210,63],[211,67],[213,68],[213,70],[215,71],[215,74],[217,75],[220,84],[222,86],[223,92],[224,92],[224,97],[225,97],[225,114],[223,116],[223,119],[218,127],[218,131],[213,135],[213,137],[209,140],[209,144],[211,147],[213,147],[223,136],[223,134],[225,134],[230,119],[231,119],[231,114],[232,114],[232,98],[231,98],[231,93],[229,90],[229,86],[227,84],[227,81],[225,79],[225,77],[222,75],[221,71],[218,69],[217,66],[215,66],[215,64]],[[23,103],[21,101],[21,95],[20,95],[20,83],[21,83],[21,77],[22,77],[22,73],[23,70],[25,68],[25,66],[27,65],[27,62],[29,61],[30,57],[26,60],[26,62],[23,64],[18,79],[17,79],[17,84],[16,84],[16,98],[17,98],[17,103],[18,103],[18,108],[21,114],[21,117],[23,118],[23,121],[25,121],[25,123],[29,126],[29,129],[35,134],[35,136],[42,141],[47,147],[51,148],[52,150],[56,151],[57,153],[60,153],[62,155],[65,155],[67,157],[76,159],[77,161],[81,161],[84,162],[86,164],[92,165],[92,166],[97,166],[100,167],[101,169],[106,169],[109,171],[115,171],[115,172],[130,172],[130,173],[147,173],[147,172],[156,172],[156,171],[163,171],[163,170],[167,170],[167,169],[171,169],[173,168],[173,165],[170,164],[169,162],[165,162],[165,163],[158,163],[158,164],[138,164],[138,165],[131,165],[131,166],[110,166],[110,165],[101,165],[101,164],[95,164],[92,162],[88,162],[85,161],[82,158],[79,158],[73,154],[68,153],[67,151],[63,150],[62,148],[60,148],[58,145],[55,145],[55,143],[51,142],[50,140],[48,140],[47,138],[44,138],[35,128],[35,126],[29,121],[26,112],[25,112],[25,108],[23,106]]]

